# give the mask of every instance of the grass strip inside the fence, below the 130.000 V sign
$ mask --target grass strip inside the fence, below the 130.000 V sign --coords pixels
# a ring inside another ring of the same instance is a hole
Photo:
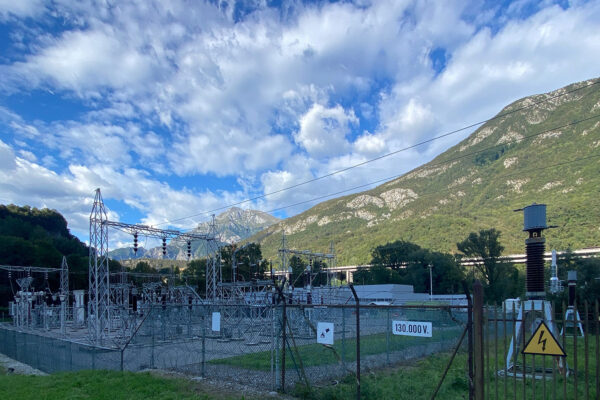
[[[396,336],[389,334],[375,334],[361,337],[361,356],[372,354],[385,355],[386,352],[395,352],[406,349],[410,346],[428,344],[432,341],[440,342],[446,340],[457,339],[462,328],[444,328],[434,329],[433,338],[416,338],[410,336]],[[290,356],[289,348],[287,349],[286,367],[293,368],[294,359],[300,357],[304,367],[316,365],[328,365],[341,362],[342,355],[345,361],[352,362],[356,360],[356,339],[348,338],[346,340],[338,339],[333,346],[324,346],[313,343],[298,346],[294,349],[294,353]],[[210,363],[231,365],[240,368],[248,368],[262,371],[271,369],[271,352],[262,351],[252,354],[244,354],[240,356],[212,360]]]

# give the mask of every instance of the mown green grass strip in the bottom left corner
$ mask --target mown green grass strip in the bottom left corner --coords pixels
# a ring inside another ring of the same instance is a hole
[[[220,394],[192,381],[150,373],[80,371],[48,376],[0,374],[0,397],[20,400],[65,399],[244,399]]]

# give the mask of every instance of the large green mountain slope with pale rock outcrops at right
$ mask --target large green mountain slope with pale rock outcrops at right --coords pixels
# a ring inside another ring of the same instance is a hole
[[[538,104],[539,103],[539,104]],[[456,253],[470,232],[496,228],[505,253],[523,253],[523,214],[547,204],[548,249],[600,242],[600,80],[518,100],[468,138],[400,178],[320,203],[250,240],[278,264],[287,247],[328,252],[338,265],[368,263],[371,250],[406,240]]]

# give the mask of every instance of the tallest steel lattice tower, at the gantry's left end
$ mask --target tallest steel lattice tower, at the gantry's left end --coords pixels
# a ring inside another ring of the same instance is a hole
[[[107,220],[100,189],[96,189],[90,214],[88,332],[92,342],[101,342],[106,337],[110,320]]]

